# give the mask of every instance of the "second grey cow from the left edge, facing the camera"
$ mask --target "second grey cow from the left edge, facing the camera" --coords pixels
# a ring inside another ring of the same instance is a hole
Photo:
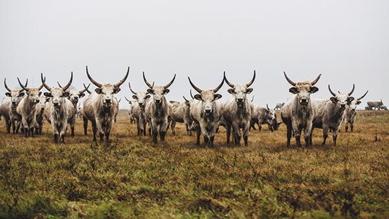
[[[19,85],[27,91],[27,95],[19,102],[16,107],[16,113],[21,115],[25,136],[34,137],[34,127],[37,123],[35,105],[40,102],[39,96],[42,94],[40,90],[43,88],[43,84],[39,86],[39,88],[27,88],[20,82],[19,78],[18,82]]]

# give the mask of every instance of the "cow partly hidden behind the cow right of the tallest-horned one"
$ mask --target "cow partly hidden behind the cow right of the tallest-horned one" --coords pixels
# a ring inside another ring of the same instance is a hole
[[[136,103],[131,105],[131,114],[137,122],[138,135],[146,135],[146,116],[145,116],[145,105],[149,102],[149,92],[135,92],[128,82],[130,91],[134,94],[132,98],[135,99]],[[127,99],[127,98],[126,98]],[[127,100],[128,101],[128,100]],[[128,101],[130,103],[130,101]]]

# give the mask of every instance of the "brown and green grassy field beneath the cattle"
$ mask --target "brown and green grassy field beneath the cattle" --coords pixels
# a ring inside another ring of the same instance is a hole
[[[66,144],[47,123],[24,138],[1,121],[0,218],[389,218],[389,113],[358,113],[336,147],[315,130],[308,149],[287,148],[284,125],[251,131],[248,147],[226,145],[221,128],[208,149],[182,124],[152,145],[124,111],[110,145],[81,120]]]

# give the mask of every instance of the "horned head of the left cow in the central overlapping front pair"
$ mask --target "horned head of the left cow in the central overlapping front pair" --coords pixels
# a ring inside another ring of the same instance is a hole
[[[211,90],[202,90],[198,87],[196,87],[195,84],[192,83],[191,79],[188,77],[189,83],[191,86],[199,93],[194,96],[196,100],[199,100],[202,102],[202,110],[206,115],[209,115],[212,113],[212,110],[214,109],[214,101],[219,100],[222,96],[221,94],[216,93],[219,91],[219,89],[223,86],[224,83],[224,77],[221,83],[215,88]]]

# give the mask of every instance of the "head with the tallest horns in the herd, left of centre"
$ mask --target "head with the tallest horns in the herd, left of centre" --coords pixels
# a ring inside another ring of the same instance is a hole
[[[102,104],[104,107],[110,107],[112,105],[114,94],[119,93],[119,86],[126,81],[128,74],[130,73],[130,67],[127,68],[127,73],[123,79],[121,79],[116,84],[100,84],[99,82],[93,80],[91,75],[88,72],[88,66],[86,67],[86,75],[88,75],[89,80],[97,86],[95,92],[101,95]]]

